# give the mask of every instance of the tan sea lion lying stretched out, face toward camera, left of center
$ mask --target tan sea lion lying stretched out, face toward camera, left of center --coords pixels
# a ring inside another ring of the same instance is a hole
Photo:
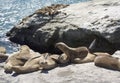
[[[49,56],[48,53],[45,53],[41,56],[35,56],[29,59],[24,66],[13,66],[12,70],[15,71],[15,73],[23,74],[43,69],[52,69],[56,66],[56,62]]]

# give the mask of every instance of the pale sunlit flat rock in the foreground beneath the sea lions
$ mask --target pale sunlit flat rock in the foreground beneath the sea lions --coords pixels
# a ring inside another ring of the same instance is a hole
[[[0,65],[2,65],[0,63]],[[119,83],[119,71],[94,66],[93,63],[57,67],[50,71],[6,74],[0,68],[0,83]]]

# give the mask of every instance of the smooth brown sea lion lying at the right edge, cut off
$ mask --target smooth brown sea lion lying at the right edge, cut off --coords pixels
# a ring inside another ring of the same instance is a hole
[[[94,64],[99,67],[120,71],[120,58],[117,57],[97,56]]]

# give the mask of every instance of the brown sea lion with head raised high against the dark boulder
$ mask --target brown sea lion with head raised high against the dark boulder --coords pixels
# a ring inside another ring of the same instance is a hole
[[[62,42],[56,43],[56,47],[65,53],[60,58],[67,57],[67,61],[72,63],[91,62],[95,57],[95,55],[89,53],[86,47],[71,48]]]

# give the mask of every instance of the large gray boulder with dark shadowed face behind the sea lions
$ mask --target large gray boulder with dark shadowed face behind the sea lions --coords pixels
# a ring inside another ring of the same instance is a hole
[[[94,39],[97,43],[92,51],[114,53],[120,49],[120,0],[52,7],[24,18],[8,32],[10,40],[51,53],[58,52],[54,45],[60,41],[71,47],[88,47]]]

